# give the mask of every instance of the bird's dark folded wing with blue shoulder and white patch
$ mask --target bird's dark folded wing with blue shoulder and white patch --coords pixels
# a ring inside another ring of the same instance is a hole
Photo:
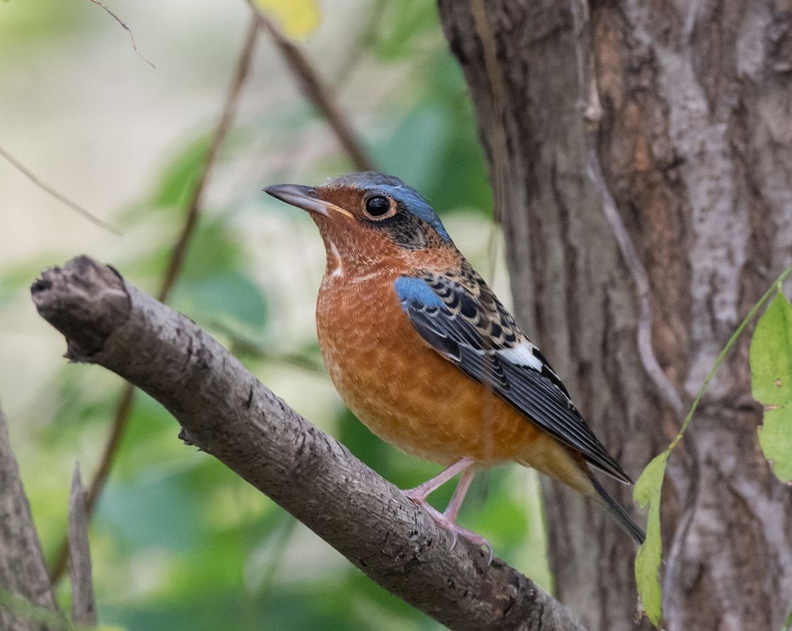
[[[542,353],[472,268],[453,277],[400,276],[394,290],[417,332],[440,355],[593,466],[632,482],[585,423]]]

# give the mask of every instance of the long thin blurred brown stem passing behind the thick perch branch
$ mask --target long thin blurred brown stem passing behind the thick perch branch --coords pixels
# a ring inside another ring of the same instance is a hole
[[[250,25],[245,37],[245,43],[242,45],[242,52],[239,55],[238,62],[234,69],[234,77],[231,80],[230,88],[228,90],[226,101],[223,104],[223,112],[220,114],[215,131],[211,137],[211,144],[204,158],[204,165],[192,188],[192,194],[188,201],[187,211],[185,214],[184,223],[177,236],[176,242],[173,245],[173,251],[170,254],[168,261],[168,268],[166,269],[165,276],[162,280],[162,286],[158,292],[158,299],[166,301],[173,289],[174,283],[181,272],[181,268],[185,263],[188,245],[195,233],[198,224],[198,217],[200,215],[204,190],[208,183],[209,175],[212,166],[215,164],[219,154],[220,147],[228,135],[231,123],[234,120],[236,113],[239,96],[242,93],[242,87],[245,85],[248,76],[250,62],[253,59],[253,48],[256,43],[258,32],[258,18],[256,15],[250,20]],[[121,393],[118,405],[116,405],[116,412],[112,420],[112,428],[105,443],[105,450],[102,452],[97,472],[94,474],[93,480],[88,490],[88,515],[93,514],[93,509],[96,507],[97,499],[101,493],[102,488],[107,481],[107,477],[112,468],[112,462],[116,457],[116,452],[120,446],[120,441],[124,435],[124,430],[127,426],[132,405],[135,399],[135,389],[131,385],[124,386]],[[58,556],[55,558],[55,563],[52,565],[52,582],[57,581],[63,576],[63,571],[66,569],[66,561],[68,557],[68,542],[64,538],[59,548]]]

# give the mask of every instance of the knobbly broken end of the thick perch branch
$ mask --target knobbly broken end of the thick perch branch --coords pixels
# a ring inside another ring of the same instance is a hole
[[[124,279],[85,255],[45,269],[30,294],[41,317],[66,336],[67,358],[77,362],[100,352],[131,312]]]

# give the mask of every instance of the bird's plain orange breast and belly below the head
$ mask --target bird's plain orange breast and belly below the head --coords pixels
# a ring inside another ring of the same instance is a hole
[[[397,277],[383,270],[355,279],[339,269],[322,283],[319,344],[349,409],[386,442],[444,465],[469,457],[542,470],[568,459],[565,447],[429,347],[402,312]]]

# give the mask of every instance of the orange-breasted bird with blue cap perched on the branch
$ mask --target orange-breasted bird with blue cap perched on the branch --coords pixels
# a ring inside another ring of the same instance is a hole
[[[627,485],[630,476],[421,194],[375,172],[264,190],[308,211],[324,242],[316,328],[341,398],[386,443],[446,467],[405,494],[452,547],[464,538],[492,561],[493,546],[457,518],[475,473],[508,462],[594,500],[642,544],[592,468]],[[459,474],[441,513],[427,498]]]

